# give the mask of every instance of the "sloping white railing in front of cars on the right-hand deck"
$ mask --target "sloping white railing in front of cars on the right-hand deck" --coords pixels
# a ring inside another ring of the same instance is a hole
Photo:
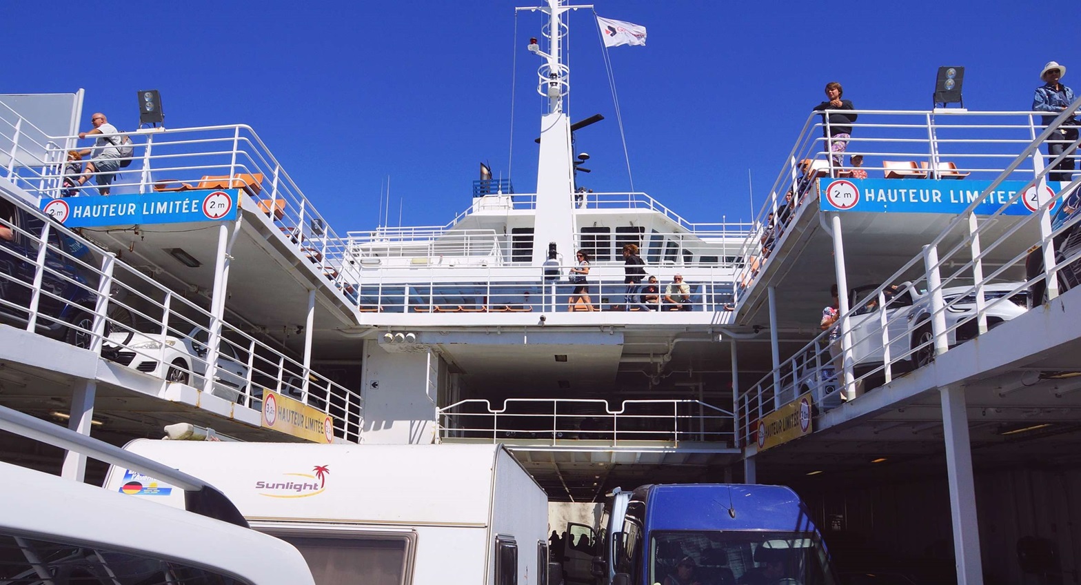
[[[1056,123],[1079,108],[1081,99]],[[802,391],[813,393],[819,410],[858,400],[863,391],[926,365],[1029,306],[1042,305],[1062,290],[1081,284],[1081,178],[1057,194],[1045,187],[1046,174],[1055,172],[1054,165],[1064,158],[1044,168],[1039,149],[1049,135],[1051,130],[1043,130],[1029,139],[920,255],[883,283],[853,294],[849,310],[837,320],[836,341],[829,338],[832,327],[827,328],[740,395],[737,412],[743,444],[755,439],[753,421]],[[1007,201],[996,200],[1001,204],[989,215],[974,213],[999,184],[1018,176],[1027,176],[1025,188]],[[1038,199],[1036,213],[1003,228],[999,217],[1033,186],[1038,194],[1050,195]],[[993,264],[987,261],[991,253],[998,256]],[[1026,306],[1020,307],[1022,303]]]

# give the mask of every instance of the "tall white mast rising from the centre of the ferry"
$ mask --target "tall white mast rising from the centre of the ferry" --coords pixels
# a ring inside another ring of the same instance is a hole
[[[537,69],[537,93],[548,99],[540,117],[540,155],[537,159],[537,201],[533,227],[533,263],[540,265],[548,257],[549,242],[556,242],[561,263],[574,257],[574,164],[571,148],[571,121],[564,111],[563,98],[571,90],[570,69],[563,64],[562,39],[566,25],[562,15],[569,10],[592,9],[592,5],[564,5],[564,0],[547,0],[540,10],[548,14],[548,52],[531,42],[529,50],[545,63]]]

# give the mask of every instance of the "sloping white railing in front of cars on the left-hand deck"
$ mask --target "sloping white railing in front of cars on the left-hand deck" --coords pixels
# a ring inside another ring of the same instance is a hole
[[[335,436],[359,442],[359,393],[215,319],[37,209],[2,202],[16,210],[11,218],[0,217],[0,227],[12,231],[0,244],[5,321],[156,375],[162,388],[186,383],[254,410],[262,409],[263,390],[273,389],[333,415]],[[215,328],[219,343],[208,347]]]

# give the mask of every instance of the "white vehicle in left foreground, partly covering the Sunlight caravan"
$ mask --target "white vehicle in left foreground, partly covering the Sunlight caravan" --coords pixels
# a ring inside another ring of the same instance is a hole
[[[103,461],[155,467],[111,444],[4,407],[0,429]],[[313,585],[295,547],[237,526],[243,519],[213,487],[158,470],[188,490],[187,508],[198,513],[0,462],[0,583]],[[185,508],[184,491],[174,491]]]

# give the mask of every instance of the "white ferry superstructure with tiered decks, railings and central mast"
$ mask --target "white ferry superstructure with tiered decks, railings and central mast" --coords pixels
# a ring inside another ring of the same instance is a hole
[[[548,26],[522,39],[546,101],[536,192],[482,177],[441,226],[333,225],[330,196],[243,125],[133,133],[112,196],[63,198],[76,137],[0,105],[0,404],[114,442],[176,422],[498,442],[561,501],[784,482],[822,526],[957,559],[959,583],[1019,582],[1026,536],[1073,567],[1056,534],[1062,514],[1081,522],[1062,511],[1081,483],[1081,205],[1079,181],[1049,180],[1040,112],[859,110],[848,152],[867,178],[827,156],[812,115],[753,221],[694,223],[579,185],[572,8],[535,9]],[[628,291],[625,244],[658,296],[682,275],[685,307]],[[77,455],[65,474],[82,477]]]

